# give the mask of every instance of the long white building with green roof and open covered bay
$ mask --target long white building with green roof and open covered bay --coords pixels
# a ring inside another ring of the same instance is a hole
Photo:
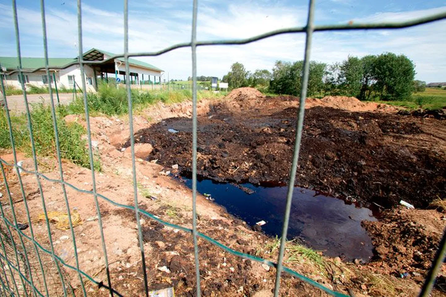
[[[108,62],[97,64],[93,61],[103,61],[111,58],[115,54],[106,52],[100,49],[90,49],[83,54],[84,60],[84,72],[85,82],[87,90],[93,91],[97,88],[97,78],[103,78],[108,80],[110,78],[118,77],[118,75],[124,75],[125,81],[125,60],[124,58],[115,58]],[[26,58],[22,57],[22,70],[23,79],[25,84],[35,86],[48,85],[48,78],[46,71],[36,70],[45,67],[44,58]],[[81,72],[78,64],[70,65],[78,61],[78,58],[49,58],[48,63],[50,66],[50,80],[53,83],[53,75],[56,78],[58,86],[65,86],[67,88],[73,87],[76,83],[79,87],[82,87]],[[149,63],[142,62],[136,59],[128,58],[130,79],[132,84],[140,84],[143,81],[151,81],[154,83],[161,82],[161,70]],[[3,76],[7,85],[12,85],[21,88],[21,78],[18,75],[19,63],[17,57],[0,57],[0,74]],[[58,67],[58,68],[55,68]],[[60,69],[63,68],[63,69]],[[111,75],[109,75],[111,74]]]

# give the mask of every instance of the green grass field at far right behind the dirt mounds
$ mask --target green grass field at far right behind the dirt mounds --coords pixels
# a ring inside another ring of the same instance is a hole
[[[441,88],[426,88],[424,92],[414,93],[407,101],[378,101],[390,105],[410,109],[442,109],[446,107],[446,90]]]

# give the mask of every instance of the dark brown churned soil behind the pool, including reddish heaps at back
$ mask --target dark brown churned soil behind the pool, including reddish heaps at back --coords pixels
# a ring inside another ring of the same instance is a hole
[[[296,100],[248,92],[231,93],[227,101],[211,105],[198,116],[198,174],[216,181],[285,184]],[[296,185],[384,207],[401,199],[426,207],[434,198],[445,198],[444,121],[399,115],[392,107],[354,98],[308,99],[308,105]],[[190,118],[142,129],[136,142],[153,145],[148,160],[190,171]]]

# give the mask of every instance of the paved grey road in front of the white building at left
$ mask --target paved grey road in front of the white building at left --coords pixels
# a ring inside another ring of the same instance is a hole
[[[82,94],[78,94],[78,96],[82,96]],[[50,94],[33,94],[27,95],[29,107],[32,108],[32,103],[40,103],[44,102],[45,104],[50,104]],[[57,103],[57,97],[53,94],[54,103]],[[23,99],[23,95],[12,95],[7,96],[8,107],[10,111],[21,113],[25,112],[25,100]],[[59,94],[59,101],[61,104],[68,104],[73,100],[72,93]]]

